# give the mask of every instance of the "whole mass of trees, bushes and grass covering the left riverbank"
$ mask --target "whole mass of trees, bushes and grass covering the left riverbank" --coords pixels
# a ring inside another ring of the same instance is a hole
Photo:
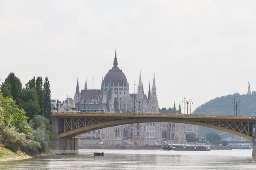
[[[0,161],[47,155],[52,139],[50,97],[48,77],[44,82],[42,77],[33,77],[23,87],[20,79],[11,72],[2,82]]]

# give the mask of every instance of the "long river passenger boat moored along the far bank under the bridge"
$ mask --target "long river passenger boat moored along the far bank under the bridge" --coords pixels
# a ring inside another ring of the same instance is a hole
[[[206,145],[195,144],[168,144],[160,146],[163,150],[186,150],[186,151],[210,151],[211,148]]]

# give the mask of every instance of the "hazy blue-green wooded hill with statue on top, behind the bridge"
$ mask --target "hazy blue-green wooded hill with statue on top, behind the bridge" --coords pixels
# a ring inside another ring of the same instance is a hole
[[[233,99],[236,99],[238,101],[241,100],[240,105],[240,115],[256,115],[256,94],[248,95],[243,94],[240,95],[238,93],[230,94],[227,96],[221,96],[216,97],[215,99],[210,100],[209,102],[204,103],[203,105],[199,106],[195,109],[195,111],[192,114],[220,114],[220,115],[233,115],[234,114],[234,104],[232,104]],[[239,110],[239,106],[237,106],[237,114]],[[236,114],[236,110],[235,110]],[[216,133],[222,133],[220,130],[215,130],[207,127],[198,127],[198,136],[203,137],[207,133],[210,132],[216,132]],[[230,133],[229,133],[230,134]],[[222,137],[234,137],[239,138],[235,135],[225,135]]]

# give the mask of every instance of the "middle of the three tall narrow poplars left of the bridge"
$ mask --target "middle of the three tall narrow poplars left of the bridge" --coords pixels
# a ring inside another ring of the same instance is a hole
[[[40,115],[44,115],[44,91],[43,91],[43,78],[38,77],[35,81],[35,91],[38,95],[38,103],[40,108]]]

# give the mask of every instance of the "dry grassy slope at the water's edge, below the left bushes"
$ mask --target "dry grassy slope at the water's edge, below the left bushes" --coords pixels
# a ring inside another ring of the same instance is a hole
[[[5,148],[2,144],[0,144],[0,161],[12,161],[28,158],[31,157],[27,156],[25,153],[21,151],[17,151],[17,153],[14,153],[11,150]]]

